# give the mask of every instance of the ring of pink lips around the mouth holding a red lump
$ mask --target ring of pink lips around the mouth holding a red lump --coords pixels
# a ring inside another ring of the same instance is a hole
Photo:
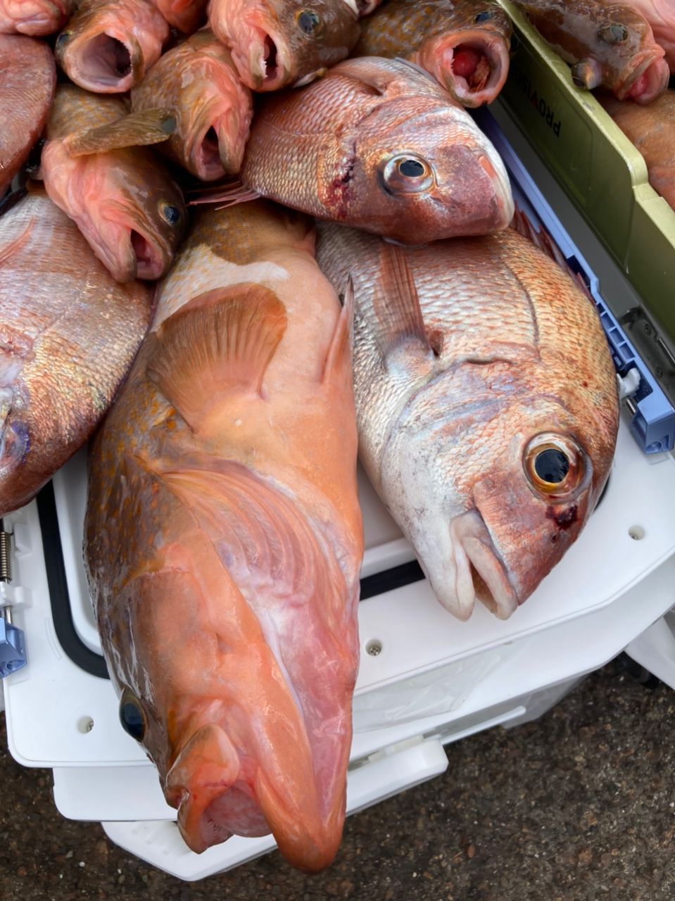
[[[478,91],[471,90],[466,79],[455,75],[452,71],[454,50],[464,44],[479,50],[487,57],[490,64],[488,83]],[[446,59],[448,52],[452,54],[450,59]],[[509,55],[506,41],[495,34],[476,29],[457,32],[442,41],[442,68],[439,70],[439,80],[446,90],[460,101],[462,106],[474,108],[492,103],[506,83],[508,67]]]

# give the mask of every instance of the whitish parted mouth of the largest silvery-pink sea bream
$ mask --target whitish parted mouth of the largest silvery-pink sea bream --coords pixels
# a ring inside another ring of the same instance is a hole
[[[451,578],[444,573],[444,584],[439,587],[430,576],[442,605],[458,619],[467,620],[479,600],[498,619],[508,619],[518,606],[518,596],[482,516],[476,510],[456,516],[450,534],[454,551]]]

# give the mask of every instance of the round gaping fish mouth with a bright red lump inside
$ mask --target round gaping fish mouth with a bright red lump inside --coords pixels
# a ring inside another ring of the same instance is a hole
[[[442,50],[442,83],[464,106],[491,103],[508,75],[508,50],[485,32],[459,32]]]

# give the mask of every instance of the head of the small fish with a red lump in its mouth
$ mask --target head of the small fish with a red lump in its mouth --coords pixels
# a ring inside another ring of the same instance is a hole
[[[489,104],[506,82],[511,32],[511,20],[497,4],[458,4],[452,23],[424,41],[415,61],[461,105]]]

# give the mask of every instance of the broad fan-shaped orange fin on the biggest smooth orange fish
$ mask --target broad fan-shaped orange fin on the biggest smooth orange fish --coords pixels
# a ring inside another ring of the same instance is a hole
[[[148,376],[196,432],[226,392],[260,395],[286,325],[286,307],[267,287],[207,291],[161,323]]]

